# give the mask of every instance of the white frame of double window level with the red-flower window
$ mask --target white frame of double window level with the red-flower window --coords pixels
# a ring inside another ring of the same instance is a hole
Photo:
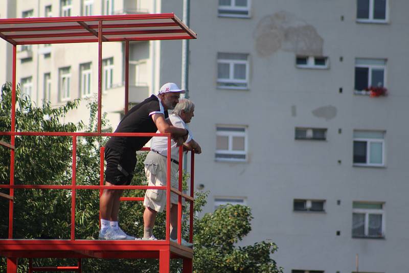
[[[236,54],[236,53],[231,53],[231,54]],[[238,59],[219,59],[217,58],[217,88],[220,89],[242,89],[242,90],[248,90],[249,89],[249,54],[247,53],[237,53],[237,54],[244,54],[246,55],[246,60],[238,60]],[[229,64],[229,78],[219,78],[219,69],[218,66],[219,64]],[[235,64],[244,64],[246,66],[246,76],[244,80],[241,79],[235,79],[234,78],[234,65]],[[229,86],[229,85],[220,85],[220,83],[225,83],[225,84],[245,84],[245,86]]]

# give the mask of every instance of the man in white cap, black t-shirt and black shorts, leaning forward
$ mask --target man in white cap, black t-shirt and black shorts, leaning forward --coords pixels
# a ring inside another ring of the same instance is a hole
[[[171,133],[178,144],[183,144],[188,130],[170,125],[166,118],[169,109],[178,103],[180,93],[174,83],[164,84],[157,96],[152,95],[132,107],[121,120],[115,132],[156,132]],[[151,137],[111,137],[105,146],[105,185],[129,185],[137,164],[136,152]],[[105,189],[100,198],[101,230],[99,238],[105,240],[134,240],[118,225],[120,198],[123,190]]]

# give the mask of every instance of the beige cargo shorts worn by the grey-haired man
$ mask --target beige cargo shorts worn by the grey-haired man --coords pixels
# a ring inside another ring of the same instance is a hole
[[[149,151],[144,161],[145,174],[148,180],[148,186],[166,186],[167,157],[161,154]],[[178,170],[179,166],[171,162],[170,181],[171,186],[178,189]],[[170,202],[177,204],[178,195],[171,192]],[[185,206],[185,198],[182,198],[182,205]],[[166,208],[166,191],[165,190],[146,190],[144,206],[149,207],[157,212],[163,212]]]

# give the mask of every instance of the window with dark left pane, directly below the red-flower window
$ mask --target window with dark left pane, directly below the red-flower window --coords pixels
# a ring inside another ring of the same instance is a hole
[[[354,166],[384,166],[384,131],[354,130]]]

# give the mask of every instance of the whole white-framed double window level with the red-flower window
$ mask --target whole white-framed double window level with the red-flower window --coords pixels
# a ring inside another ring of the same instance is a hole
[[[248,54],[217,53],[217,86],[247,89],[248,66]]]

